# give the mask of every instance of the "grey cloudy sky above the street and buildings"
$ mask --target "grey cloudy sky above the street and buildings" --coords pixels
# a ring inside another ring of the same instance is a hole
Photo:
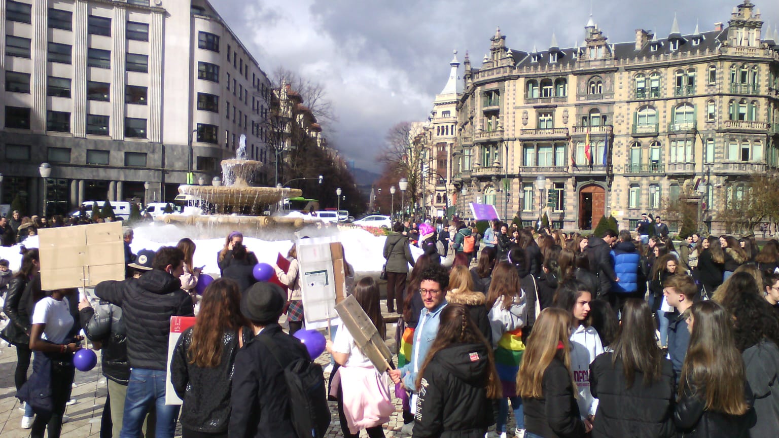
[[[727,23],[740,0],[599,0],[595,22],[611,42],[635,30],[667,35],[674,14],[682,34]],[[509,48],[561,47],[583,39],[587,0],[211,0],[269,75],[283,65],[326,87],[337,122],[326,134],[358,168],[379,171],[376,155],[392,125],[424,120],[449,77],[452,50],[474,66],[500,26]],[[756,0],[771,29],[779,2]],[[765,27],[764,27],[765,29]],[[462,67],[460,67],[462,72]]]

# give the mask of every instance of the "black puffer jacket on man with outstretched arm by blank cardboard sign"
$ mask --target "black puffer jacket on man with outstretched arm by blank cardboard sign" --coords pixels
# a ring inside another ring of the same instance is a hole
[[[138,279],[103,281],[95,294],[122,307],[130,366],[167,369],[171,316],[195,316],[182,282],[164,270],[150,270]]]

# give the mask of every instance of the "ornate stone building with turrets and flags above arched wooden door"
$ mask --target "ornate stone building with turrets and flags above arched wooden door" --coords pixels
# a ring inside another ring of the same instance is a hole
[[[493,203],[526,224],[542,211],[566,229],[614,214],[634,228],[684,196],[724,231],[728,199],[779,164],[777,31],[747,0],[714,30],[682,34],[674,19],[667,37],[639,29],[612,44],[590,17],[585,34],[520,51],[497,30],[481,67],[465,55],[456,111],[445,117],[437,97],[431,118],[456,124],[442,139],[450,205],[470,216],[468,202]]]

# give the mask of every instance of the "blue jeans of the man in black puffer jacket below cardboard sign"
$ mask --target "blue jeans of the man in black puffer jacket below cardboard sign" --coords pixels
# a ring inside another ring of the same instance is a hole
[[[159,369],[133,368],[127,385],[125,414],[120,438],[137,438],[151,406],[157,409],[156,438],[173,438],[178,420],[178,405],[165,404],[165,372]]]

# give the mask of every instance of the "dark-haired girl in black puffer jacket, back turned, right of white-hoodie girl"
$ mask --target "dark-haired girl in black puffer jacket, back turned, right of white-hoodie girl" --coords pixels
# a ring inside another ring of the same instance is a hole
[[[590,391],[600,401],[594,438],[676,436],[674,370],[657,348],[653,327],[647,302],[629,298],[622,307],[622,324],[611,351],[590,365]]]

